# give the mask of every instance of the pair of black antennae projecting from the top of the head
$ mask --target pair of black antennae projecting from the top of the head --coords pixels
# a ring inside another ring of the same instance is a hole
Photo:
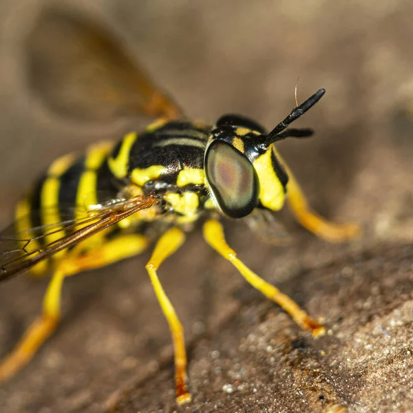
[[[325,93],[326,89],[319,89],[313,96],[310,96],[305,102],[301,103],[301,105],[295,107],[291,113],[268,134],[266,137],[266,144],[271,145],[273,142],[285,139],[288,136],[294,136],[295,138],[311,136],[313,134],[312,129],[290,129],[284,132],[284,134],[280,134],[280,132],[284,131],[290,123],[294,122],[294,120],[298,119],[301,115],[304,115],[310,107],[313,107],[324,96]]]

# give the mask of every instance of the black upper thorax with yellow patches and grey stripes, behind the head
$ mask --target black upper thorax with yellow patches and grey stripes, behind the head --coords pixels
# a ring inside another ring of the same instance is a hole
[[[152,182],[158,182],[158,187],[162,183],[180,188],[201,185],[209,130],[178,121],[150,125],[139,136],[128,134],[114,147],[109,169],[140,187],[151,187]]]

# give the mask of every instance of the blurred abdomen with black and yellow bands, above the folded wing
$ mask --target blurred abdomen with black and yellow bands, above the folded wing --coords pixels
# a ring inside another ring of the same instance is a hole
[[[112,147],[112,143],[103,142],[92,145],[85,155],[70,154],[57,159],[34,185],[32,192],[18,203],[17,233],[24,239],[36,238],[28,244],[27,252],[63,237],[66,230],[60,223],[85,218],[88,205],[100,202],[100,190],[108,192],[105,194],[107,199],[114,198],[113,176],[104,167]],[[57,253],[54,259],[64,253]],[[45,260],[34,266],[32,272],[42,273],[47,269],[46,263]]]

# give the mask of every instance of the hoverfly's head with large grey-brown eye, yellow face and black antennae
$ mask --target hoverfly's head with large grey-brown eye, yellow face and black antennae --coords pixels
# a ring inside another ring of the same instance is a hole
[[[320,89],[310,96],[269,134],[243,116],[225,115],[218,120],[209,136],[204,168],[211,198],[225,215],[243,218],[259,205],[271,211],[282,208],[288,176],[272,144],[288,136],[312,135],[311,129],[284,129],[323,95]]]

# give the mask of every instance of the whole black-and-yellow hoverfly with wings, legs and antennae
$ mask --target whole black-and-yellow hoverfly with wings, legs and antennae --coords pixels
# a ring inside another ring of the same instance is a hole
[[[47,49],[47,42],[33,43],[32,72],[43,73],[43,83],[32,87],[52,102],[67,88],[78,92],[67,105],[56,100],[56,109],[82,113],[109,107],[158,120],[117,142],[101,142],[55,160],[18,202],[14,225],[1,234],[0,279],[23,271],[52,277],[42,315],[1,361],[0,379],[21,370],[54,332],[65,277],[138,255],[156,242],[146,269],[171,329],[177,401],[189,401],[184,330],[157,271],[198,220],[204,222],[207,244],[252,286],[314,337],[323,335],[323,326],[237,257],[226,244],[220,220],[279,211],[287,202],[297,221],[319,237],[341,241],[357,233],[354,224],[333,224],[310,210],[274,145],[313,134],[288,126],[324,96],[324,89],[271,131],[234,114],[221,116],[214,125],[194,123],[105,29],[70,14],[48,12],[37,30],[33,39],[60,34],[65,43],[61,50]],[[39,44],[43,48],[35,47]],[[51,52],[59,59],[49,59]]]

